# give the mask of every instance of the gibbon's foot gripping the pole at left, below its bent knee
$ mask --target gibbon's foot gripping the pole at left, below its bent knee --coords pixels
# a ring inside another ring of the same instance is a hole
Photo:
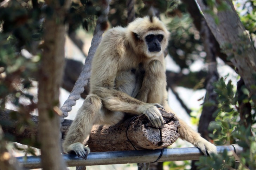
[[[79,142],[71,144],[68,150],[69,154],[76,154],[78,157],[82,157],[85,160],[87,159],[87,156],[90,153],[90,149]]]

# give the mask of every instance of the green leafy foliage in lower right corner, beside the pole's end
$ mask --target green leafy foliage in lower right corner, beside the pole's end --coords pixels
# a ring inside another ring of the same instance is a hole
[[[232,153],[227,151],[213,157],[201,157],[197,163],[201,170],[206,169],[256,169],[256,138],[255,138],[255,107],[253,106],[251,114],[254,120],[253,124],[245,127],[241,122],[238,110],[241,105],[238,104],[238,93],[234,89],[231,81],[225,83],[224,79],[220,79],[215,83],[215,91],[218,94],[218,110],[216,111],[216,122],[212,122],[209,126],[213,130],[211,137],[217,145],[229,145],[237,143],[244,148],[240,155],[241,161],[235,164],[234,157],[230,157]],[[251,102],[247,89],[242,90],[246,100],[243,102]],[[253,104],[251,102],[251,104]],[[250,117],[248,117],[248,122]]]

